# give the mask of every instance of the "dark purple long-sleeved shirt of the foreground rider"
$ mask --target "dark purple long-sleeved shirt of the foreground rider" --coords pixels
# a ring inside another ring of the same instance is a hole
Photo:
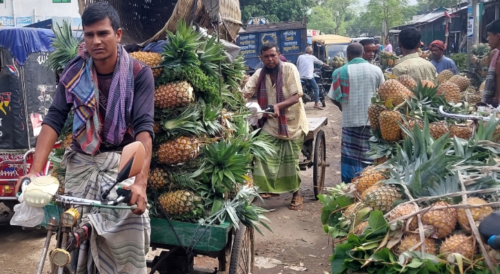
[[[130,114],[131,131],[126,131],[119,146],[113,146],[106,142],[106,138],[101,136],[103,143],[99,146],[99,152],[121,150],[124,146],[134,142],[135,136],[142,131],[147,131],[153,138],[153,116],[154,116],[154,78],[151,69],[137,60],[134,60],[132,67],[134,74],[134,101],[132,102],[132,113]],[[108,107],[108,95],[113,74],[97,74],[97,84],[99,88],[99,120],[103,125],[106,118],[106,107]],[[54,101],[48,110],[48,114],[43,118],[42,124],[49,125],[61,134],[66,117],[70,112],[72,103],[66,102],[66,88],[59,82]],[[133,136],[132,136],[133,134]],[[72,141],[75,151],[85,153],[76,140]]]

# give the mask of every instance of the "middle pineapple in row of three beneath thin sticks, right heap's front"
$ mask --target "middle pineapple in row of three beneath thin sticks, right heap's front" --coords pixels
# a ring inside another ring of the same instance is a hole
[[[434,226],[438,239],[450,235],[457,226],[457,209],[450,207],[448,209],[433,209],[433,207],[446,207],[449,205],[447,202],[436,202],[422,215],[423,224]]]

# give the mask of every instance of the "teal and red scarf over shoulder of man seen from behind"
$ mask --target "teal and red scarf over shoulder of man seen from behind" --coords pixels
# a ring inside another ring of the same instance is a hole
[[[346,65],[335,70],[332,74],[332,91],[328,94],[328,97],[333,100],[346,104],[349,101],[349,75],[348,75],[348,65],[368,63],[365,59],[354,58]]]

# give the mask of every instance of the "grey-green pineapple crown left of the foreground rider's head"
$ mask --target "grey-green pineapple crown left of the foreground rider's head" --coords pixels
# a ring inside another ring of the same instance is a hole
[[[48,56],[45,65],[51,70],[62,72],[66,64],[77,56],[78,47],[83,39],[81,35],[73,36],[71,24],[68,21],[63,21],[62,25],[55,23],[52,30],[55,36],[52,38],[52,47],[55,50]]]

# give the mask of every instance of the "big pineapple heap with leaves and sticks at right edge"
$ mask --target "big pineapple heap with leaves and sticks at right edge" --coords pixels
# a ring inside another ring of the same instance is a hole
[[[368,109],[374,165],[320,196],[332,273],[500,273],[477,231],[500,206],[496,116],[464,76],[386,78]]]

